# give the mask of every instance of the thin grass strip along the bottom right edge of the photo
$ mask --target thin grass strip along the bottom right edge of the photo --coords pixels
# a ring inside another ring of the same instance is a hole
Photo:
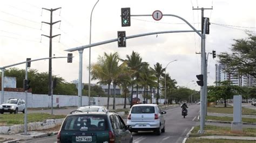
[[[203,143],[250,143],[254,142],[255,140],[228,140],[228,139],[198,139],[198,138],[188,138],[186,143],[192,142],[203,142]]]

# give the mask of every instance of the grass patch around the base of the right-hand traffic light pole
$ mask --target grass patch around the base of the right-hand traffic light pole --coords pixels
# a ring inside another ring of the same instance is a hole
[[[242,132],[232,132],[231,127],[220,127],[220,126],[211,126],[206,125],[204,134],[198,134],[200,126],[194,127],[191,131],[190,137],[201,137],[208,135],[228,135],[228,136],[245,136],[245,137],[256,137],[255,128],[243,128]]]

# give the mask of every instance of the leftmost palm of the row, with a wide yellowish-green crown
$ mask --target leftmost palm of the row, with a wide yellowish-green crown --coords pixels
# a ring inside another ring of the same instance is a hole
[[[98,83],[107,84],[109,90],[107,109],[109,109],[110,84],[113,80],[113,76],[117,73],[118,59],[117,52],[113,54],[110,53],[109,55],[104,53],[104,56],[99,56],[97,63],[91,66],[92,80],[99,80]]]

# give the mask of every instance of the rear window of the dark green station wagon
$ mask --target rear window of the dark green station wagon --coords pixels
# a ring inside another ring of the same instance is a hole
[[[66,131],[104,131],[107,130],[104,115],[74,115],[66,117],[63,130]]]

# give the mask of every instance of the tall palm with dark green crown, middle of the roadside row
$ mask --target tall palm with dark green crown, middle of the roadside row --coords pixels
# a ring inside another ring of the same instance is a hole
[[[126,60],[122,60],[127,64],[127,67],[131,72],[133,73],[131,75],[132,77],[132,91],[131,91],[131,105],[130,108],[132,107],[132,95],[133,95],[133,85],[134,85],[134,77],[138,77],[139,69],[142,67],[143,62],[142,58],[140,58],[139,53],[132,51],[131,55],[126,55]],[[138,84],[137,84],[137,97],[138,97]]]

